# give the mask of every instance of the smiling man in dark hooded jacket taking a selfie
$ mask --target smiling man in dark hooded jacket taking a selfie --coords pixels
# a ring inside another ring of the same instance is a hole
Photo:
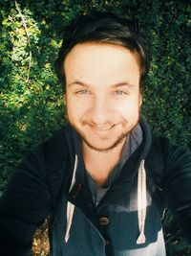
[[[0,204],[0,254],[27,255],[50,220],[54,256],[165,255],[164,202],[191,241],[191,153],[139,116],[149,70],[138,25],[72,23],[56,59],[69,125],[21,163]]]

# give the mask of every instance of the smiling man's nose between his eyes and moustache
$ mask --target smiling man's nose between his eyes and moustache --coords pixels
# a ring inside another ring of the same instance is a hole
[[[105,97],[99,95],[94,99],[90,109],[90,118],[96,126],[110,126],[112,123],[112,105]]]

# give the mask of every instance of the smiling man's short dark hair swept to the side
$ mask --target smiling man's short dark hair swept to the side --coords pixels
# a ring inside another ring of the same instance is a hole
[[[150,56],[148,42],[140,32],[138,20],[130,20],[108,12],[80,15],[65,29],[63,43],[55,60],[55,72],[66,90],[63,64],[66,56],[78,43],[113,43],[126,47],[138,57],[140,89],[148,76]]]

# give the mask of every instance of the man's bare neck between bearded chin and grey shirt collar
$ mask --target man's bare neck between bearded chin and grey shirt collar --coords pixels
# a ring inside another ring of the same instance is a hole
[[[95,151],[82,143],[83,158],[87,172],[99,185],[104,184],[120,159],[125,139],[110,151]]]

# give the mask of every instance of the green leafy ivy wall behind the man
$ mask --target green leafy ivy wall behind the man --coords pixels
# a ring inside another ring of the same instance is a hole
[[[0,0],[0,195],[24,154],[65,122],[53,61],[64,26],[93,8],[138,18],[153,53],[142,113],[156,133],[191,148],[189,1]],[[164,222],[168,254],[191,255],[171,215]]]

